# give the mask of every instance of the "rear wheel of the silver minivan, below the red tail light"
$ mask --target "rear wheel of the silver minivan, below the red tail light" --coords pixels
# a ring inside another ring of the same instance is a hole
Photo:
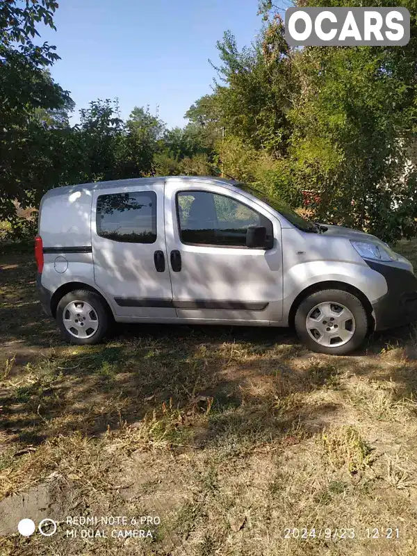
[[[99,343],[107,334],[111,315],[101,295],[88,290],[74,290],[58,303],[56,321],[67,342],[92,345]]]

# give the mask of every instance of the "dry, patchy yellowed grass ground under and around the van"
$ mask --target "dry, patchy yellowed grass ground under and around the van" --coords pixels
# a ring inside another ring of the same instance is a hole
[[[417,263],[416,242],[397,250]],[[34,270],[0,257],[1,555],[417,553],[416,327],[351,357],[244,327],[126,325],[77,347]],[[67,516],[129,525],[67,537]],[[25,517],[56,534],[20,536]],[[111,537],[133,528],[152,538]]]

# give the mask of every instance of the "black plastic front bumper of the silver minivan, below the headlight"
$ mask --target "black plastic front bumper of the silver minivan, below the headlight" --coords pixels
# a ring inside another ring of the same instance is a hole
[[[408,325],[417,320],[417,278],[409,270],[375,261],[368,266],[382,274],[388,291],[373,302],[375,330]]]

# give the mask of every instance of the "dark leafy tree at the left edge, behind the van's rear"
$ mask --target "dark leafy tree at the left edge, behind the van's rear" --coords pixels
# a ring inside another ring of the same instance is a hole
[[[40,158],[50,145],[37,115],[72,108],[68,92],[46,71],[58,59],[55,48],[33,43],[38,24],[54,28],[57,6],[53,0],[0,0],[0,218],[10,221],[17,218],[15,202],[36,204],[53,185],[51,174],[42,174]]]

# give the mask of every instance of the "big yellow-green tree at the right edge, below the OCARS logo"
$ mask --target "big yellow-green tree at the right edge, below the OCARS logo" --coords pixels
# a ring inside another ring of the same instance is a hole
[[[391,241],[417,231],[416,179],[407,167],[407,146],[416,140],[417,10],[413,2],[396,4],[411,12],[406,47],[297,53],[304,90],[290,115],[295,179],[320,190],[317,217]]]

